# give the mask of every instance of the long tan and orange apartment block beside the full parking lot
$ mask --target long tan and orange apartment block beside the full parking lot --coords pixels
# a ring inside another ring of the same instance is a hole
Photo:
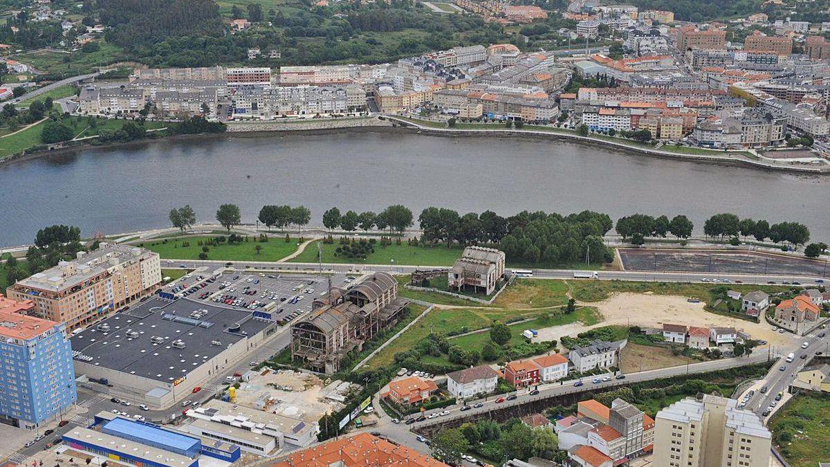
[[[73,261],[17,281],[8,297],[31,300],[30,314],[66,328],[85,327],[153,292],[161,283],[159,254],[144,248],[100,243]]]

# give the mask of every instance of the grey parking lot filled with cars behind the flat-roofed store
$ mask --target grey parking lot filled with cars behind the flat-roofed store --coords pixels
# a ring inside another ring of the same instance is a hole
[[[345,275],[332,277],[332,287],[350,282]],[[209,302],[251,312],[270,312],[271,319],[289,322],[310,311],[315,297],[328,291],[325,277],[278,273],[225,272],[212,278],[209,272],[188,273],[173,283],[174,293],[197,301]]]

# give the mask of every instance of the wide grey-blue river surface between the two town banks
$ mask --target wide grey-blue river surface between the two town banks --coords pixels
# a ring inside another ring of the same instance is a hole
[[[263,137],[223,135],[82,150],[0,166],[0,245],[31,243],[51,224],[83,234],[168,226],[190,204],[212,222],[219,204],[253,223],[263,204],[305,204],[311,224],[325,209],[378,211],[405,204],[461,214],[492,209],[619,216],[686,214],[702,229],[733,212],[808,224],[830,240],[830,177],[792,175],[632,155],[553,140],[449,138],[344,132]]]

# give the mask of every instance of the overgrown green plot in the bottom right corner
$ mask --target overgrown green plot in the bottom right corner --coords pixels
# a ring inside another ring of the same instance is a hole
[[[769,423],[773,442],[793,467],[830,459],[830,395],[805,391]]]

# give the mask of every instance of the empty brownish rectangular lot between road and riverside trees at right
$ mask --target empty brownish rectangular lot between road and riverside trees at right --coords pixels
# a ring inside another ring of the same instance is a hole
[[[781,274],[827,277],[825,260],[748,251],[620,248],[627,271]]]

